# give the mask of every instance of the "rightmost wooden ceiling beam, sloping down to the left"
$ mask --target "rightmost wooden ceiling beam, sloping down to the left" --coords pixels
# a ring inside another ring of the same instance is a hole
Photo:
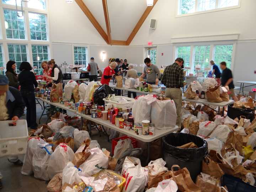
[[[146,8],[146,10],[144,11],[144,13],[142,14],[142,16],[140,17],[138,23],[135,25],[132,33],[130,34],[130,36],[128,37],[126,44],[129,45],[133,38],[135,37],[135,35],[137,34],[137,32],[139,31],[140,27],[142,26],[142,24],[144,23],[144,21],[146,20],[146,18],[148,17],[148,15],[150,14],[151,10],[153,9],[153,7],[155,6],[156,2],[158,0],[154,0],[153,6],[148,6]]]

